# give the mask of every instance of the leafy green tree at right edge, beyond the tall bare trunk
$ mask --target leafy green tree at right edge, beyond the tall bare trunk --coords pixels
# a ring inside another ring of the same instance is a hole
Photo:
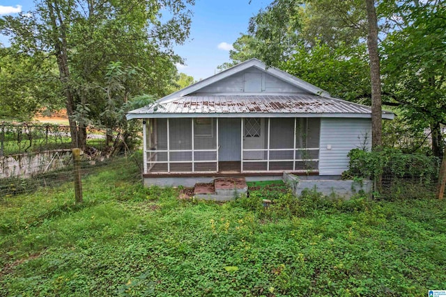
[[[446,125],[446,7],[417,1],[392,8],[399,23],[383,41],[387,104],[398,106],[410,125],[430,129],[431,150],[443,156]],[[444,126],[443,126],[444,127]]]

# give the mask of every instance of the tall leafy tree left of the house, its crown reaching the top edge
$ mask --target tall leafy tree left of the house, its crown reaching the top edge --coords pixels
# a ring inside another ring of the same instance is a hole
[[[189,35],[193,2],[41,0],[31,13],[3,17],[0,29],[21,51],[56,57],[72,145],[84,148],[86,125],[100,120],[105,106],[98,86],[109,62],[144,68],[144,91],[167,90],[180,61],[171,45]],[[171,19],[161,22],[161,10]]]

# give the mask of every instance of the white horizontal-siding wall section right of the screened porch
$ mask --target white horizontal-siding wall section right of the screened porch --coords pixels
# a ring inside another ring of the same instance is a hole
[[[321,119],[319,175],[341,175],[348,169],[348,152],[364,144],[370,149],[370,119]]]

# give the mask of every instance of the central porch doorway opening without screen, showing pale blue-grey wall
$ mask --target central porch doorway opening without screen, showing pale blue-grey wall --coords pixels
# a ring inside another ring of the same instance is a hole
[[[240,161],[240,118],[218,119],[218,161]]]

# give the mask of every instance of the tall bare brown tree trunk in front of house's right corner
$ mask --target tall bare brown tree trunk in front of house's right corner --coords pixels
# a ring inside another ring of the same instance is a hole
[[[370,58],[371,80],[371,146],[376,149],[382,145],[382,111],[381,111],[381,79],[378,54],[378,22],[374,0],[365,0],[367,6],[367,20],[369,22],[369,35],[367,47]]]

